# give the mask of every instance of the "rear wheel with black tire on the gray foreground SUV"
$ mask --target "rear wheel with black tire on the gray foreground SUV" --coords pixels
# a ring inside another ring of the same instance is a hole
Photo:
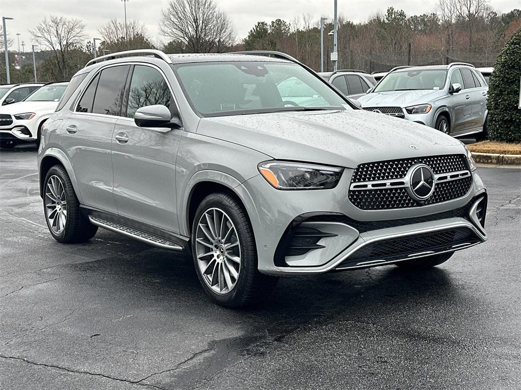
[[[58,200],[55,193],[58,194]],[[45,175],[43,208],[47,227],[58,242],[84,242],[96,234],[97,226],[92,225],[89,219],[81,214],[80,202],[69,175],[61,165],[54,165]],[[64,218],[59,216],[59,210],[65,210]]]

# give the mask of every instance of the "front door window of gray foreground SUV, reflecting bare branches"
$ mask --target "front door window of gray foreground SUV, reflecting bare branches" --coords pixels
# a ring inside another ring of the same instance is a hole
[[[135,112],[145,106],[163,105],[170,108],[171,102],[170,88],[163,75],[152,67],[136,65],[132,72],[125,116],[133,118]]]

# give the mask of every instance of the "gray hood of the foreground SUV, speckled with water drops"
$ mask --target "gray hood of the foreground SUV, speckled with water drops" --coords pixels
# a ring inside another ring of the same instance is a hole
[[[435,129],[363,110],[204,118],[197,133],[274,159],[351,168],[371,161],[465,153],[460,141]]]

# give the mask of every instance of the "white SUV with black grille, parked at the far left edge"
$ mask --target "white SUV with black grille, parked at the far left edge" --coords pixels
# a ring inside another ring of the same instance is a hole
[[[0,107],[0,147],[14,148],[21,142],[39,146],[42,125],[56,110],[68,84],[45,84],[23,101]]]

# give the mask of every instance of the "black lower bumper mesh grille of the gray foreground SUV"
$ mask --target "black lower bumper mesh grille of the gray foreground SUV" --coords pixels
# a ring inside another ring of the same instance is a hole
[[[407,256],[432,251],[443,252],[457,249],[463,244],[480,242],[475,233],[466,227],[391,238],[369,243],[349,256],[337,268],[356,266],[361,262],[404,259]]]

